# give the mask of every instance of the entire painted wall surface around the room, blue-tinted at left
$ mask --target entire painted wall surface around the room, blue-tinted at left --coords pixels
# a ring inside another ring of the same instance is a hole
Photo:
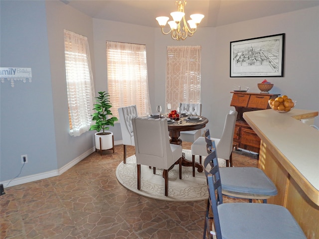
[[[0,181],[17,175],[21,154],[29,156],[20,175],[25,177],[60,169],[93,148],[93,131],[78,137],[68,134],[64,28],[88,37],[96,92],[107,90],[107,40],[146,44],[153,111],[164,106],[166,46],[201,45],[203,116],[214,136],[220,136],[231,109],[230,92],[238,85],[259,92],[257,83],[264,79],[229,77],[230,41],[286,33],[285,74],[267,78],[275,84],[270,93],[288,95],[297,100],[297,108],[319,111],[319,6],[216,28],[199,27],[194,36],[174,41],[160,28],[91,19],[61,1],[0,4],[1,67],[32,68],[32,83],[14,88],[0,83]],[[319,125],[318,117],[315,123]],[[115,140],[121,140],[119,124],[111,131]]]

